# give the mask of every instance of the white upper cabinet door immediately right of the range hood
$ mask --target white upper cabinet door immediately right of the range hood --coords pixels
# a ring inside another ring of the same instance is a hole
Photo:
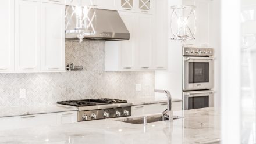
[[[133,69],[134,67],[134,13],[120,12],[120,16],[130,32],[129,41],[120,42],[120,69]]]

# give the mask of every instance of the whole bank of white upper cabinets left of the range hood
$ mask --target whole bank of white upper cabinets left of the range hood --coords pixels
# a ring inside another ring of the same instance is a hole
[[[65,71],[65,5],[4,0],[0,12],[0,73]]]

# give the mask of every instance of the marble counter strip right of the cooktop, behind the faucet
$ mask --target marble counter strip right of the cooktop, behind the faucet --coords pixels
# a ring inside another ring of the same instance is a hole
[[[133,98],[133,99],[127,99],[129,103],[133,103],[133,106],[137,105],[149,105],[154,103],[165,103],[167,102],[167,98],[164,99],[156,99],[155,97],[141,97],[141,98]],[[172,98],[172,102],[180,102],[182,99],[178,98]]]

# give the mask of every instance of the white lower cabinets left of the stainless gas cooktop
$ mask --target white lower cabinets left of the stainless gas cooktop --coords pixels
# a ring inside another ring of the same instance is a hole
[[[0,118],[1,130],[77,122],[77,111]]]

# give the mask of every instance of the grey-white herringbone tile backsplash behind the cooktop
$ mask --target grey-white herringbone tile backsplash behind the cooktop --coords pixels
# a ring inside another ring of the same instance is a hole
[[[60,100],[89,98],[132,99],[153,96],[153,71],[106,72],[105,42],[66,42],[66,63],[83,65],[84,71],[66,73],[0,74],[0,106],[47,105]],[[141,84],[141,91],[135,91]],[[20,88],[26,98],[20,98]]]

